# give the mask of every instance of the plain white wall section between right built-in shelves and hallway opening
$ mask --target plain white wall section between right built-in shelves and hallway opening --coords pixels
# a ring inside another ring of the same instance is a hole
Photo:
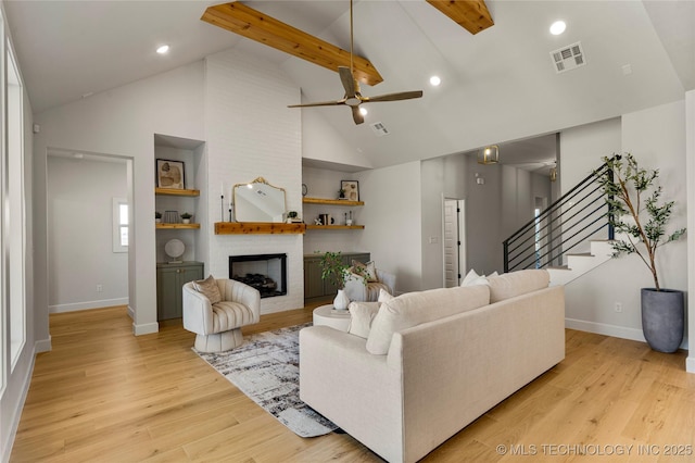
[[[365,201],[357,248],[396,275],[397,293],[422,289],[420,163],[359,172],[356,179]]]

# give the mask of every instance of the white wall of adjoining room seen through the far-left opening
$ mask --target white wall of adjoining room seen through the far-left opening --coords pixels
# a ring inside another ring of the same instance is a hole
[[[126,196],[124,161],[48,157],[50,312],[128,302],[128,254],[112,247],[113,198]]]

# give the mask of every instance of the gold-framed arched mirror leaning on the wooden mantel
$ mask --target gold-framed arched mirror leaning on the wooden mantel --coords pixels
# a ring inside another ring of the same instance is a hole
[[[239,222],[285,222],[287,202],[285,189],[258,177],[232,189],[235,217]]]

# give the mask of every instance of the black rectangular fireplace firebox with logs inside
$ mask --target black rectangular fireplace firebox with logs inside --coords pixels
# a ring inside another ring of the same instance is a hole
[[[261,292],[261,298],[287,295],[287,254],[230,255],[229,278]]]

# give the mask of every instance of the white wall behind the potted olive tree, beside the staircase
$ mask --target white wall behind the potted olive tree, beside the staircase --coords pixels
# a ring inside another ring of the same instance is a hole
[[[592,126],[596,130],[592,130]],[[674,200],[670,229],[686,225],[685,103],[678,101],[645,111],[624,114],[616,134],[616,121],[592,124],[572,130],[567,149],[563,134],[563,175],[571,165],[595,165],[604,153],[629,151],[646,168],[658,168],[664,199]],[[620,137],[615,148],[616,135]],[[602,141],[603,140],[603,141]],[[604,146],[603,142],[606,145]],[[582,157],[583,159],[579,159]],[[591,167],[587,167],[591,168]],[[564,182],[564,188],[567,185]],[[657,266],[665,288],[687,289],[687,242],[682,239],[659,249]],[[567,326],[629,339],[642,336],[640,288],[653,287],[650,273],[640,258],[626,255],[608,261],[566,286]],[[622,312],[615,312],[615,303]],[[692,314],[691,314],[692,315]]]

